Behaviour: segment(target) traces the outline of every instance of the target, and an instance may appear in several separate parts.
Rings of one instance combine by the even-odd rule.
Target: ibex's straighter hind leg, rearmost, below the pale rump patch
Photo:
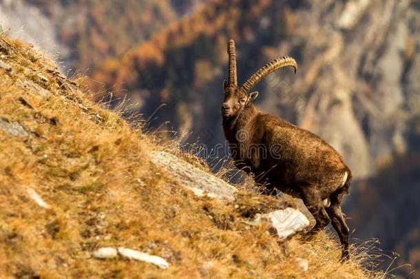
[[[337,231],[340,242],[342,243],[342,260],[348,260],[350,253],[348,251],[349,229],[342,213],[342,200],[344,196],[343,188],[338,189],[330,196],[331,205],[326,209],[328,216],[335,231]]]

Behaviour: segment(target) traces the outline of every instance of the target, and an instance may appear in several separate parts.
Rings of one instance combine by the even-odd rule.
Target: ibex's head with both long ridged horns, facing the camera
[[[292,66],[297,70],[295,59],[283,56],[280,59],[274,59],[255,72],[241,87],[238,87],[238,76],[236,74],[236,54],[235,41],[230,40],[227,45],[227,54],[229,56],[229,77],[223,83],[224,99],[222,104],[222,116],[224,118],[233,118],[238,116],[245,107],[249,107],[253,100],[257,98],[258,92],[249,91],[255,87],[266,76],[286,66]]]

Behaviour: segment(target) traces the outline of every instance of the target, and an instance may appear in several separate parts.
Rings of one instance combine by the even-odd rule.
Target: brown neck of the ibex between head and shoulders
[[[223,131],[227,141],[229,141],[229,143],[235,143],[236,133],[239,130],[246,129],[246,125],[252,121],[257,114],[258,110],[251,104],[249,107],[245,107],[235,118],[223,118]]]

